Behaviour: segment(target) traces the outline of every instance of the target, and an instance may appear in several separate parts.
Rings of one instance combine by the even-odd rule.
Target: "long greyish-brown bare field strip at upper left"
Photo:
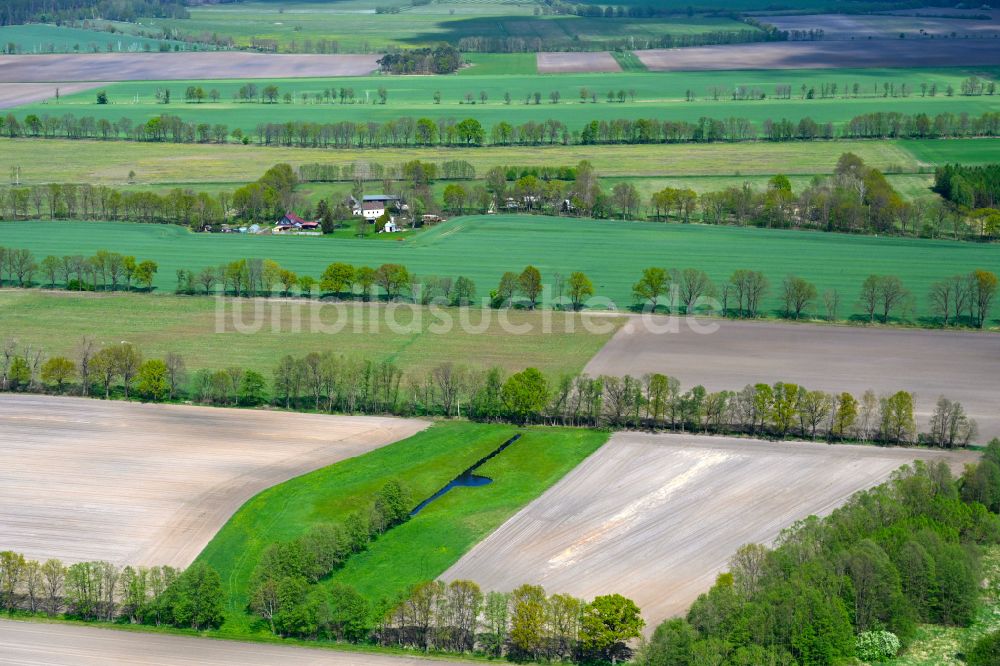
[[[379,57],[237,51],[8,55],[0,58],[0,83],[364,76]]]

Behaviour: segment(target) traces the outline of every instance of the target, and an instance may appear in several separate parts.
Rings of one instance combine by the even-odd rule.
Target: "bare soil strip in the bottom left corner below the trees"
[[[0,620],[0,655],[0,663],[6,666],[420,666],[455,663],[454,660],[13,620]]]

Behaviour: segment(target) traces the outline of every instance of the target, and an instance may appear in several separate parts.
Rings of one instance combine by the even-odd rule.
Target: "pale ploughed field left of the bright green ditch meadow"
[[[0,550],[184,567],[258,492],[416,420],[0,398]]]

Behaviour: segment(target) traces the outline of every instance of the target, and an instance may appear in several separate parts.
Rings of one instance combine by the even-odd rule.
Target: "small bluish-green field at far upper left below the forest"
[[[184,42],[150,39],[122,32],[85,30],[34,23],[30,25],[0,26],[0,49],[10,52],[10,45],[16,53],[92,53],[105,51],[158,51],[160,44],[169,44],[183,49],[190,48]]]

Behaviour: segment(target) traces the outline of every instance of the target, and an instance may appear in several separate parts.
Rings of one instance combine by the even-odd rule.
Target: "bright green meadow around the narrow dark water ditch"
[[[300,476],[260,493],[215,535],[199,560],[222,576],[229,597],[224,633],[252,631],[244,611],[247,583],[265,546],[293,539],[314,524],[342,521],[389,480],[413,504],[429,497],[518,430],[513,426],[445,422],[377,451]],[[493,483],[456,488],[390,530],[332,576],[370,602],[395,600],[432,580],[504,520],[596,451],[607,433],[528,429],[479,468]],[[321,583],[322,584],[322,583]]]

